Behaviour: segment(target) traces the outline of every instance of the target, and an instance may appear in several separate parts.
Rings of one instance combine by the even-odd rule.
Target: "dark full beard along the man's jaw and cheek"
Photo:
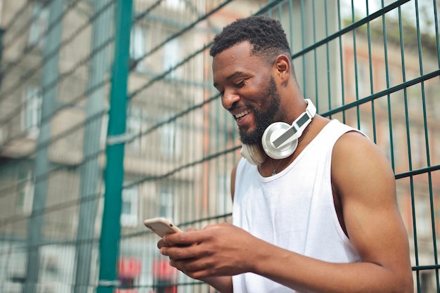
[[[285,118],[284,111],[280,111],[281,98],[273,77],[269,80],[265,95],[266,98],[261,98],[260,104],[261,109],[264,109],[266,105],[264,112],[257,110],[253,105],[246,104],[246,107],[254,112],[256,125],[252,131],[245,131],[239,127],[240,141],[245,145],[259,145],[261,147],[261,137],[266,128],[273,122],[282,121]]]

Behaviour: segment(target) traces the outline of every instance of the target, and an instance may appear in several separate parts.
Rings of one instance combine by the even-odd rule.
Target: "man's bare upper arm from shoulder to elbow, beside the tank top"
[[[335,145],[332,183],[347,233],[362,261],[408,266],[408,236],[396,203],[394,174],[367,138],[346,134]]]

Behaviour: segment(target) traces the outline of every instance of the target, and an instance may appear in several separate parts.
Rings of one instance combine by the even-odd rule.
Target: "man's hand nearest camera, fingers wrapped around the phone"
[[[228,223],[168,234],[157,243],[170,265],[198,280],[250,271],[256,237]]]

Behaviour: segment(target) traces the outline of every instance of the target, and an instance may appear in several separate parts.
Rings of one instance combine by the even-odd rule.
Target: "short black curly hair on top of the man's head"
[[[224,27],[214,37],[209,54],[214,57],[242,41],[249,41],[252,45],[252,54],[261,56],[269,64],[273,64],[276,56],[280,54],[292,57],[281,23],[264,15],[240,18]]]

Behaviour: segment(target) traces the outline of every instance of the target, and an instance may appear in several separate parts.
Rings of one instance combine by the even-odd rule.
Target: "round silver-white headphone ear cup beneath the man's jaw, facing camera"
[[[261,144],[263,145],[263,150],[272,159],[284,159],[289,157],[295,152],[298,146],[298,140],[283,145],[281,148],[276,148],[272,141],[275,141],[291,126],[284,122],[275,122],[269,125],[264,131],[263,137],[261,138]]]

